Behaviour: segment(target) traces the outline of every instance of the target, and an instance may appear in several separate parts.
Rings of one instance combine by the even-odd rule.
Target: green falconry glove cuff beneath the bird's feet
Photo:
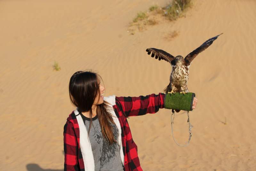
[[[195,93],[167,93],[164,96],[164,108],[192,111]]]

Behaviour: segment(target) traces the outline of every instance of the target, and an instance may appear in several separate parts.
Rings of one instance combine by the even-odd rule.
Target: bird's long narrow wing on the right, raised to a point
[[[221,33],[220,35],[222,35],[223,33]],[[198,48],[196,48],[196,50],[190,52],[186,57],[185,57],[185,62],[187,64],[187,66],[190,65],[190,63],[192,62],[192,60],[194,58],[196,58],[196,56],[201,53],[202,51],[204,51],[206,48],[208,48],[212,42],[214,40],[216,40],[218,38],[219,35],[212,37],[211,39],[207,40],[206,42],[204,42],[201,46],[199,46]]]

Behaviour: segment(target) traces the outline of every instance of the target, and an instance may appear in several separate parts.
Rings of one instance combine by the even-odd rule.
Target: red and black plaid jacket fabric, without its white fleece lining
[[[164,108],[165,94],[159,93],[140,97],[116,97],[113,105],[122,130],[125,171],[142,171],[137,145],[132,139],[127,117],[156,113]],[[84,160],[79,145],[79,127],[76,115],[72,112],[64,126],[64,171],[84,171]]]

